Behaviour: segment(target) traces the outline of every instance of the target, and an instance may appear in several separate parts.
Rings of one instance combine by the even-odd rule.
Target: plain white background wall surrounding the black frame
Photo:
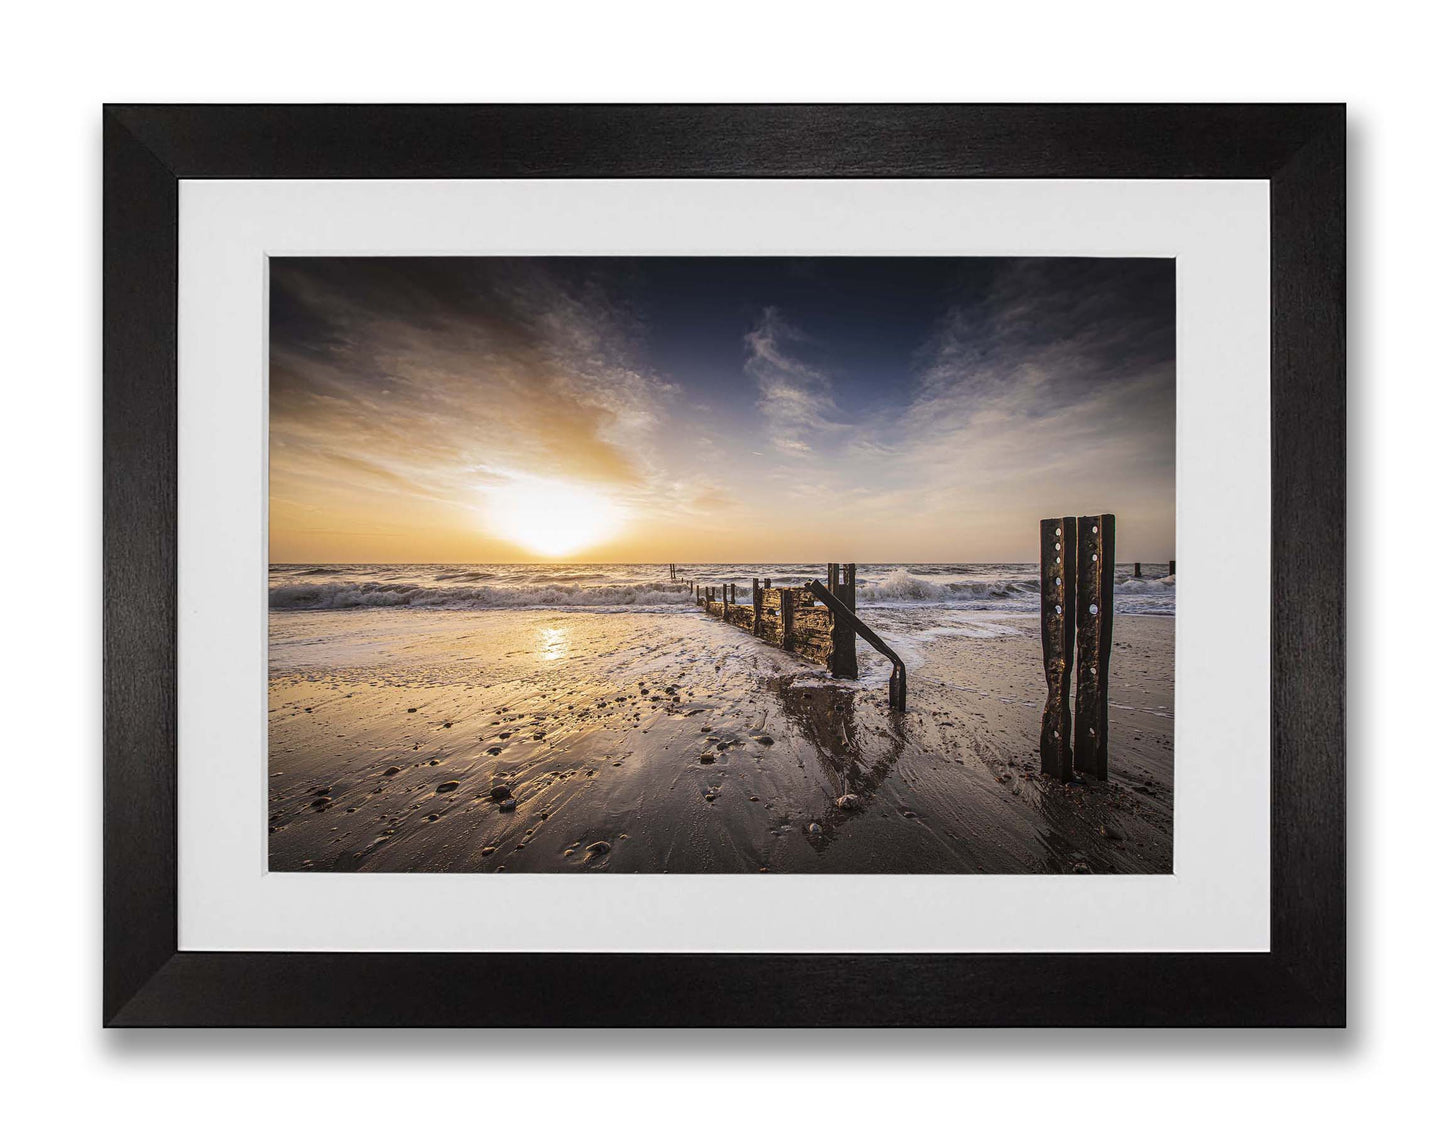
[[[1439,29],[1426,7],[127,3],[6,17],[6,1105],[35,1121],[1387,1121],[1431,1107]],[[1345,1033],[103,1033],[103,101],[1347,100]],[[1422,514],[1423,519],[1418,519]]]

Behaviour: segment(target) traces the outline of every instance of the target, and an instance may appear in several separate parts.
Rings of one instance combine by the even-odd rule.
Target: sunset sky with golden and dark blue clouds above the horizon
[[[1173,558],[1172,259],[270,262],[270,552]]]

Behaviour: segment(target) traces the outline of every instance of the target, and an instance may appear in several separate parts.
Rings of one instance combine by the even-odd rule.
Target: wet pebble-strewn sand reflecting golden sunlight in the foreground
[[[1107,783],[1038,773],[1038,616],[870,611],[909,711],[698,613],[273,611],[270,867],[1168,873],[1173,618],[1114,626]]]

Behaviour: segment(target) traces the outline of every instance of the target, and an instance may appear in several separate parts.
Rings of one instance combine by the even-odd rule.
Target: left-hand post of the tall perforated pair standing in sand
[[[1069,741],[1069,673],[1074,672],[1074,598],[1078,520],[1039,522],[1039,616],[1043,636],[1043,675],[1049,696],[1039,731],[1045,774],[1068,782],[1074,774]]]

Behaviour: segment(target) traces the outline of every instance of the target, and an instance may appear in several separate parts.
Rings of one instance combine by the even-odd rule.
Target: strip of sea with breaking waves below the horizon
[[[694,607],[688,581],[733,582],[751,600],[753,579],[796,587],[824,579],[816,564],[277,564],[270,568],[273,611],[363,611],[376,607],[449,610],[578,610],[675,613]],[[959,611],[1038,613],[1038,564],[860,564],[858,608],[942,607]],[[1114,574],[1116,614],[1175,613],[1175,577],[1166,564]]]

